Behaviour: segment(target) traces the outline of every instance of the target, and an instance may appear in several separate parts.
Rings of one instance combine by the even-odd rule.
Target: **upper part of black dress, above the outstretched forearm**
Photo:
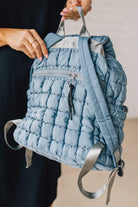
[[[36,29],[44,38],[55,32],[65,0],[0,0],[0,27]]]

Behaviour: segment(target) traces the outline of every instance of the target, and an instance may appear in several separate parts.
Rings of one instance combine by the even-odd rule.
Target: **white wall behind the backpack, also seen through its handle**
[[[109,35],[128,77],[128,118],[138,118],[138,0],[93,0],[86,16],[91,35]],[[78,33],[79,22],[66,22],[67,33]]]

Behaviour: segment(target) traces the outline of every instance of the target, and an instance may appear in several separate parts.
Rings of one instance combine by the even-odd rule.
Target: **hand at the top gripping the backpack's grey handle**
[[[67,19],[78,20],[80,18],[75,6],[81,6],[86,15],[92,9],[92,0],[67,0],[66,7],[60,13],[62,21]]]

